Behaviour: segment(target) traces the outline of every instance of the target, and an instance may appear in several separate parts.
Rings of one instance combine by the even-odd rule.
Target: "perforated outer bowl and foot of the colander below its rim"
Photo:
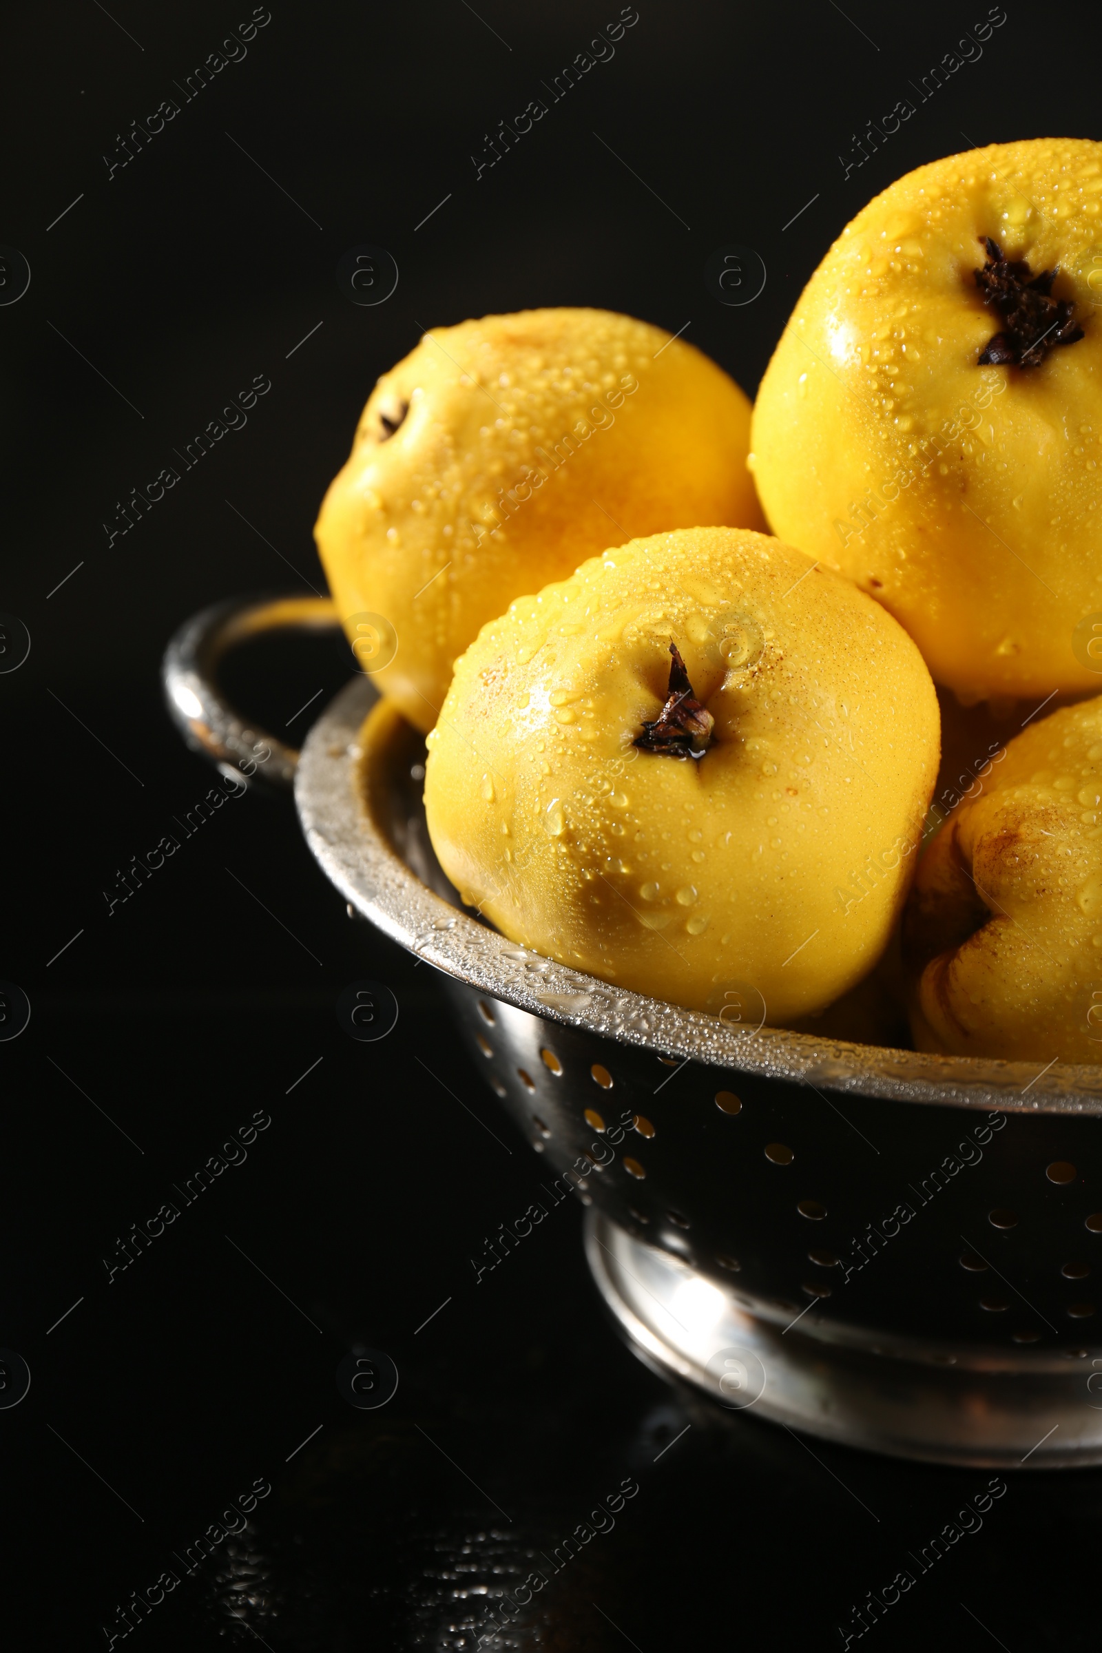
[[[1102,1461],[1095,1119],[666,1066],[444,985],[473,1061],[544,1155],[544,1207],[575,1197],[600,1215],[590,1265],[653,1365],[715,1395],[707,1362],[737,1344],[767,1367],[755,1410],[791,1427],[942,1461]],[[1067,1159],[1077,1180],[1054,1184]]]

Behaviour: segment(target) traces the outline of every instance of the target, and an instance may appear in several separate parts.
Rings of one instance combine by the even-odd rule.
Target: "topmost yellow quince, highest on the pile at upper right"
[[[1097,691],[1100,293],[1102,144],[991,144],[857,213],[762,380],[773,531],[965,701]]]

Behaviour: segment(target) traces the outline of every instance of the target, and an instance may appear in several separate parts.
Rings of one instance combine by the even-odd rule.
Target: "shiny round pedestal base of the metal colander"
[[[596,1208],[587,1212],[585,1246],[639,1359],[730,1410],[897,1458],[1026,1470],[1102,1463],[1102,1393],[1090,1393],[1087,1359],[948,1354],[919,1342],[889,1354],[874,1334],[824,1319],[813,1331],[786,1326]]]

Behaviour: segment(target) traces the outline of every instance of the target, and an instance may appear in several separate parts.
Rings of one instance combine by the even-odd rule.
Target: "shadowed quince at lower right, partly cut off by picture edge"
[[[904,957],[919,1050],[1100,1060],[1102,699],[981,765],[919,865]]]

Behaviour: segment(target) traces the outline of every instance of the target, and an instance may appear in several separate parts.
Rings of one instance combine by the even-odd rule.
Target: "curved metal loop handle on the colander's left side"
[[[169,714],[192,747],[230,780],[287,792],[299,754],[243,717],[218,686],[218,661],[264,631],[337,630],[329,597],[231,597],[187,620],[165,650],[160,676]]]

